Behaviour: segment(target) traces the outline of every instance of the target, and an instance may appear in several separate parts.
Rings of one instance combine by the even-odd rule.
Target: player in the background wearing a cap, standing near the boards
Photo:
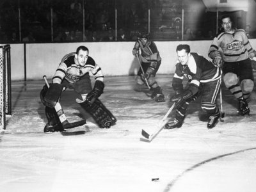
[[[159,51],[157,50],[156,44],[149,40],[149,33],[140,32],[138,39],[132,49],[132,54],[138,56],[141,51],[141,67],[143,71],[138,71],[138,76],[136,77],[136,83],[147,84],[150,86],[150,90],[153,91],[151,97],[156,100],[156,102],[163,102],[164,95],[161,87],[157,83],[155,76],[156,72],[161,65],[161,57]],[[143,74],[145,72],[145,74]],[[147,81],[147,82],[146,82]]]

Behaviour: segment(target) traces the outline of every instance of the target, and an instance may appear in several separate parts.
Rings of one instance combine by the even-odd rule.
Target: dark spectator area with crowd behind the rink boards
[[[152,38],[168,35],[168,40],[179,40],[181,2],[2,0],[0,43],[134,41],[139,31],[148,30],[148,8]],[[214,30],[184,28],[183,40],[212,39],[215,34]]]

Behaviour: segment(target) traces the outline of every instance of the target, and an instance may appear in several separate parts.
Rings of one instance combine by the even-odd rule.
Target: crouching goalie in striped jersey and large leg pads
[[[115,124],[115,116],[98,99],[104,90],[102,70],[88,54],[89,50],[84,46],[78,47],[76,52],[66,54],[52,78],[49,89],[46,85],[42,89],[40,97],[45,105],[48,120],[44,132],[63,131],[63,126],[60,124],[54,106],[60,101],[61,93],[66,88],[70,88],[81,95],[82,100],[77,99],[77,102],[92,115],[99,127],[109,128]],[[93,88],[89,72],[95,78]]]

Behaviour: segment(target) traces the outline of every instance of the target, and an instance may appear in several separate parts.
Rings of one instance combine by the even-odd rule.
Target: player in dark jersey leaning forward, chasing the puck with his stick
[[[189,102],[201,95],[201,108],[209,115],[207,128],[211,129],[220,118],[216,98],[220,90],[221,69],[196,52],[190,52],[189,45],[178,45],[176,51],[178,61],[172,82],[175,95],[171,99],[176,102],[176,115],[175,120],[166,124],[165,128],[181,127]],[[183,88],[184,78],[188,79],[187,89]]]

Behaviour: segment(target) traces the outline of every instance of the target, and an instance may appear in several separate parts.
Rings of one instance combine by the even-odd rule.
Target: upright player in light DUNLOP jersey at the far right
[[[230,16],[221,18],[223,30],[214,37],[209,49],[209,57],[223,71],[225,86],[239,102],[239,114],[249,115],[246,100],[253,90],[251,60],[255,55],[244,29],[232,28]]]

